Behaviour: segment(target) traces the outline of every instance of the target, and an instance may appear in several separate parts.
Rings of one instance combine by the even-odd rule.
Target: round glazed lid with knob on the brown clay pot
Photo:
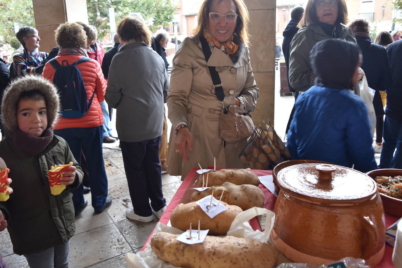
[[[297,198],[328,205],[354,205],[370,199],[377,185],[366,174],[343,166],[298,164],[278,173],[279,187]]]

